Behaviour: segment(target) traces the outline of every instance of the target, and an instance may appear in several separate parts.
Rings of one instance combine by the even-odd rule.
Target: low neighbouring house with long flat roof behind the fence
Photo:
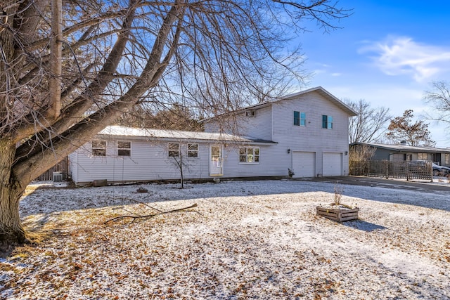
[[[373,160],[389,160],[402,162],[411,160],[430,160],[441,166],[450,167],[450,149],[409,146],[406,143],[397,145],[378,143],[352,143],[350,147],[365,145],[375,150]]]

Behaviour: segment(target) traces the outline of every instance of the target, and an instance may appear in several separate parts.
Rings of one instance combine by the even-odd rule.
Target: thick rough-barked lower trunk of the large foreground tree
[[[19,200],[25,187],[11,174],[14,154],[14,144],[0,141],[0,243],[6,244],[27,242],[19,216]]]

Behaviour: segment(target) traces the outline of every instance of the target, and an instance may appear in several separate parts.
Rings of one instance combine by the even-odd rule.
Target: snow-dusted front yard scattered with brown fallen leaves
[[[340,185],[360,211],[336,223],[316,216],[333,182],[43,186],[20,202],[42,242],[0,259],[0,299],[450,299],[446,191]]]

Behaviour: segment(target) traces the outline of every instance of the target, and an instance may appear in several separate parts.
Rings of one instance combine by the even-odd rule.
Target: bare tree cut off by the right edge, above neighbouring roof
[[[435,81],[432,90],[425,91],[424,100],[435,108],[430,119],[447,124],[450,129],[450,83],[446,81]]]

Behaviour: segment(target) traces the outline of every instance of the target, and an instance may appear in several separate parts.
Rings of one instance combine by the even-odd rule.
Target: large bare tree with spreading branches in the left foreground
[[[214,115],[274,94],[285,70],[302,79],[299,49],[285,51],[302,21],[329,30],[349,14],[334,0],[4,0],[0,11],[6,242],[27,241],[19,218],[27,184],[123,112],[184,98]]]

